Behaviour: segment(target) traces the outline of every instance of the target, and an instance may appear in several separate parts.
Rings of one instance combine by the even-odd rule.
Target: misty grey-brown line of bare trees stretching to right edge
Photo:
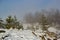
[[[51,10],[42,10],[40,12],[35,13],[27,13],[24,16],[24,20],[26,23],[35,24],[39,23],[42,30],[47,30],[49,27],[55,27],[60,29],[60,10],[51,9]],[[47,26],[48,27],[47,27]],[[31,27],[33,28],[33,26]]]

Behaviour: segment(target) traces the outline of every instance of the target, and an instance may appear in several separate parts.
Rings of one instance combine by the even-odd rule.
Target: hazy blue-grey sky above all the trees
[[[16,15],[22,19],[26,13],[49,8],[60,9],[60,0],[0,0],[0,18]]]

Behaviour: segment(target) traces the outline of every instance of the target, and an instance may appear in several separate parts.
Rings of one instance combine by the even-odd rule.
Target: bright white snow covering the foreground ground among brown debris
[[[44,35],[44,33],[40,33],[41,30],[35,31],[37,36],[35,36],[31,30],[17,30],[17,29],[10,30],[4,29],[4,30],[6,31],[6,33],[0,33],[0,40],[2,40],[1,37],[4,37],[6,35],[8,35],[8,37],[4,38],[4,40],[41,40],[39,35]],[[49,28],[48,30],[56,33],[56,29],[54,28]]]

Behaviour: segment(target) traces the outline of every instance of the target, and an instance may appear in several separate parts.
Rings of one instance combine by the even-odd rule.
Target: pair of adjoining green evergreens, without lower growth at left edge
[[[23,29],[23,26],[17,20],[16,16],[14,17],[8,16],[8,18],[6,18],[6,28],[7,29],[10,29],[10,28]]]

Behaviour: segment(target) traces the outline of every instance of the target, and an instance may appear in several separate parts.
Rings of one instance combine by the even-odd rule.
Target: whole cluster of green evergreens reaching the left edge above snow
[[[0,19],[0,28],[5,29],[23,29],[22,24],[17,20],[16,16],[8,16],[5,20]]]

